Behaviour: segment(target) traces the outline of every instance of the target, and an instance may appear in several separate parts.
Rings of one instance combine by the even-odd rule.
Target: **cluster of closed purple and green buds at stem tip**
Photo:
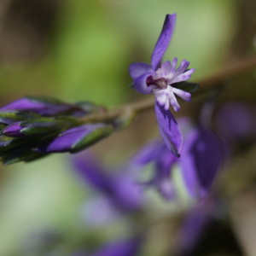
[[[86,124],[90,102],[69,104],[51,97],[27,96],[0,108],[0,156],[3,164],[35,160],[49,153],[75,153],[107,137],[112,123]]]

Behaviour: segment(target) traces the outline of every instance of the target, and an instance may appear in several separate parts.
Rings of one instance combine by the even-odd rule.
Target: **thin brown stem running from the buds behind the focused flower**
[[[230,79],[241,73],[246,73],[256,67],[256,55],[247,57],[241,61],[231,63],[225,67],[222,71],[209,76],[206,79],[201,79],[199,90],[197,90],[194,96],[199,96],[205,93],[207,90],[211,90],[214,86],[221,84],[222,82]],[[147,98],[140,102],[133,102],[116,109],[103,110],[99,113],[92,113],[88,116],[81,118],[83,123],[99,122],[113,120],[124,113],[136,114],[154,108],[154,96],[147,96]]]

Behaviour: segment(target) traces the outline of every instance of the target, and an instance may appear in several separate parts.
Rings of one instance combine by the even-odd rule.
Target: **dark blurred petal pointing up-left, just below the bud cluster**
[[[103,193],[109,193],[113,183],[95,157],[87,152],[77,154],[73,158],[73,166],[74,171],[79,174],[85,183],[89,183]]]

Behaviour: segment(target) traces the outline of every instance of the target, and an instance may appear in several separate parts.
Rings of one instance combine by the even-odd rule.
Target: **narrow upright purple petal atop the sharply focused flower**
[[[163,55],[171,41],[172,33],[174,31],[174,26],[176,22],[176,14],[166,15],[166,20],[162,31],[160,32],[160,37],[154,46],[154,51],[151,57],[151,64],[154,70],[159,66]]]

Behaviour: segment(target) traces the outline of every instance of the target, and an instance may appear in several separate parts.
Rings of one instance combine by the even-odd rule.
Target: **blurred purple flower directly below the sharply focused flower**
[[[171,180],[173,166],[181,168],[189,195],[197,198],[208,194],[224,158],[218,137],[202,126],[188,131],[182,153],[177,158],[159,140],[143,148],[134,159],[141,166],[154,162],[154,177],[146,184],[154,186],[167,201],[175,197]]]

